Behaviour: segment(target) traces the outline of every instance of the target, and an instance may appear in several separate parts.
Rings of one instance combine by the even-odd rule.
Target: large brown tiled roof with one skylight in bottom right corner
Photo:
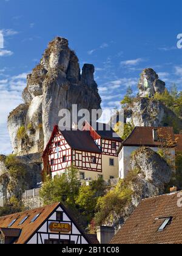
[[[141,201],[111,244],[182,244],[182,212],[178,193]],[[158,231],[170,218],[163,231]]]

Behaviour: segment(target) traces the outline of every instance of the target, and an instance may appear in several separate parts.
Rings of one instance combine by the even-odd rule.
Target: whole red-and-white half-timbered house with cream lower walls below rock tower
[[[83,130],[53,129],[45,155],[49,155],[52,177],[66,172],[73,166],[79,169],[81,180],[118,178],[118,154],[121,138],[107,126],[97,123],[95,129],[85,122]]]

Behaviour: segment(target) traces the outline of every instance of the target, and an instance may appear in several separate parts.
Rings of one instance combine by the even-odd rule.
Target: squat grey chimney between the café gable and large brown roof
[[[96,237],[100,244],[109,244],[115,235],[115,230],[113,227],[97,227]]]

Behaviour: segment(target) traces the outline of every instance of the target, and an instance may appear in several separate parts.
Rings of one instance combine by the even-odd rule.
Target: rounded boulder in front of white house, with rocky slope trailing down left
[[[132,169],[138,172],[128,187],[133,191],[132,198],[127,205],[121,207],[120,214],[112,212],[112,218],[109,216],[104,223],[106,226],[115,227],[115,230],[120,229],[142,199],[164,194],[165,187],[172,177],[172,169],[167,162],[150,148],[138,149],[132,155],[130,164]]]

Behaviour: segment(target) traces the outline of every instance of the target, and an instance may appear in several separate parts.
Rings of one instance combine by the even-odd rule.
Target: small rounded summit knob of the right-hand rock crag
[[[152,97],[155,93],[164,93],[166,84],[161,81],[152,68],[146,68],[141,73],[138,84],[140,97]]]

